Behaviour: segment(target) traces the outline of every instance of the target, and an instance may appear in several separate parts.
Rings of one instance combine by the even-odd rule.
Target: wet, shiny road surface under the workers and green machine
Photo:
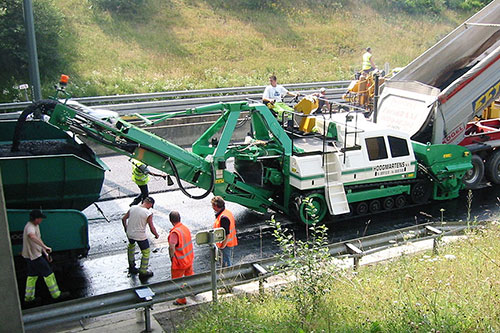
[[[62,290],[69,290],[72,298],[100,295],[122,290],[141,284],[137,276],[127,274],[127,238],[122,227],[121,217],[128,210],[129,204],[138,188],[130,179],[131,167],[126,157],[114,156],[104,158],[111,171],[106,173],[106,180],[101,192],[103,201],[97,203],[102,213],[94,206],[88,207],[84,213],[89,219],[90,252],[89,256],[73,265],[55,265],[56,276]],[[214,220],[210,205],[212,195],[202,200],[186,197],[175,187],[165,192],[163,180],[152,179],[150,192],[156,200],[154,208],[154,224],[159,239],[150,235],[152,249],[150,269],[154,276],[148,282],[159,282],[170,279],[170,260],[168,257],[167,236],[171,228],[168,214],[178,210],[182,222],[194,235],[202,230],[210,229]],[[159,191],[163,191],[159,193]],[[201,194],[203,190],[191,189],[193,194]],[[466,220],[468,215],[467,192],[452,201],[433,202],[432,204],[407,208],[401,211],[382,213],[374,216],[358,217],[346,221],[327,221],[329,241],[338,242],[364,235],[371,235],[388,230],[407,227],[417,223],[439,221],[441,209],[445,221]],[[487,187],[473,192],[471,220],[484,221],[500,217],[500,186]],[[118,197],[118,199],[112,199]],[[227,208],[235,215],[237,221],[239,245],[235,249],[235,262],[252,262],[263,257],[272,256],[278,250],[272,230],[267,221],[269,214],[255,213],[235,203],[227,203]],[[306,228],[303,224],[290,221],[277,214],[282,224],[294,232],[299,239],[305,239]],[[149,231],[148,231],[149,232]],[[43,236],[43,235],[42,235]],[[209,250],[207,246],[194,244],[195,273],[208,271]],[[136,259],[140,251],[136,250]],[[24,288],[23,277],[19,276],[19,289]],[[44,301],[45,287],[38,285]],[[48,301],[47,301],[48,302]]]

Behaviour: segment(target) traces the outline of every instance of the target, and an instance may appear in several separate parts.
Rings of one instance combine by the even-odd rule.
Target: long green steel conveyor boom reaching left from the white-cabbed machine
[[[201,199],[213,193],[256,211],[265,212],[272,208],[288,214],[292,142],[271,111],[262,104],[218,103],[160,117],[158,121],[180,114],[222,112],[222,116],[201,135],[193,144],[192,152],[189,152],[123,119],[109,123],[63,103],[52,100],[45,101],[45,104],[44,101],[38,103],[42,112],[50,116],[49,123],[52,125],[61,130],[83,134],[120,154],[174,176],[181,191],[191,198]],[[251,117],[254,139],[265,144],[252,147],[253,149],[238,149],[241,145],[238,148],[230,145],[242,112],[249,113]],[[214,141],[215,135],[218,138]],[[283,179],[276,177],[274,170],[267,171],[274,174],[274,184],[281,181],[279,186],[249,184],[226,169],[226,162],[231,157],[258,162],[260,158],[270,154],[276,156],[275,165],[278,165]],[[192,195],[184,189],[181,180],[206,192]]]

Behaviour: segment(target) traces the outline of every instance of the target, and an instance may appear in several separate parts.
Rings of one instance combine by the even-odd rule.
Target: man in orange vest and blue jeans
[[[221,197],[215,196],[212,198],[212,209],[215,212],[214,228],[224,228],[226,231],[226,239],[216,244],[222,251],[222,267],[228,267],[231,266],[234,247],[238,245],[236,223],[233,213],[226,209],[226,203]]]

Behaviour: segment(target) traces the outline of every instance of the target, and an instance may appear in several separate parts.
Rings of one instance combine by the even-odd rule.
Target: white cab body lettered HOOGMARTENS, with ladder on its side
[[[302,151],[291,157],[290,184],[323,189],[333,215],[349,213],[344,186],[416,177],[417,161],[408,134],[367,121],[362,114],[316,117],[326,140],[294,140]]]

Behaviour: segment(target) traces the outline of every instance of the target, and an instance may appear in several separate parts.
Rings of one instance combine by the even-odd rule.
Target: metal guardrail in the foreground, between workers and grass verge
[[[352,257],[359,261],[363,255],[378,252],[395,245],[404,245],[427,239],[458,234],[475,226],[466,223],[431,222],[412,227],[388,231],[377,235],[352,239],[328,246],[333,257]],[[436,231],[437,230],[437,231]],[[430,236],[429,236],[430,234]],[[349,244],[349,246],[348,246]],[[352,249],[359,251],[353,253]],[[241,264],[219,271],[218,284],[231,287],[251,281],[262,280],[270,275],[273,266],[282,264],[278,257],[272,257],[253,263]],[[135,290],[149,287],[155,296],[150,301],[143,301]],[[210,272],[196,274],[176,280],[168,280],[137,288],[116,291],[109,294],[83,299],[70,300],[62,303],[46,305],[23,311],[24,327],[28,330],[38,330],[44,327],[79,321],[86,318],[120,312],[134,308],[149,308],[155,303],[165,302],[180,297],[198,294],[211,290]]]

